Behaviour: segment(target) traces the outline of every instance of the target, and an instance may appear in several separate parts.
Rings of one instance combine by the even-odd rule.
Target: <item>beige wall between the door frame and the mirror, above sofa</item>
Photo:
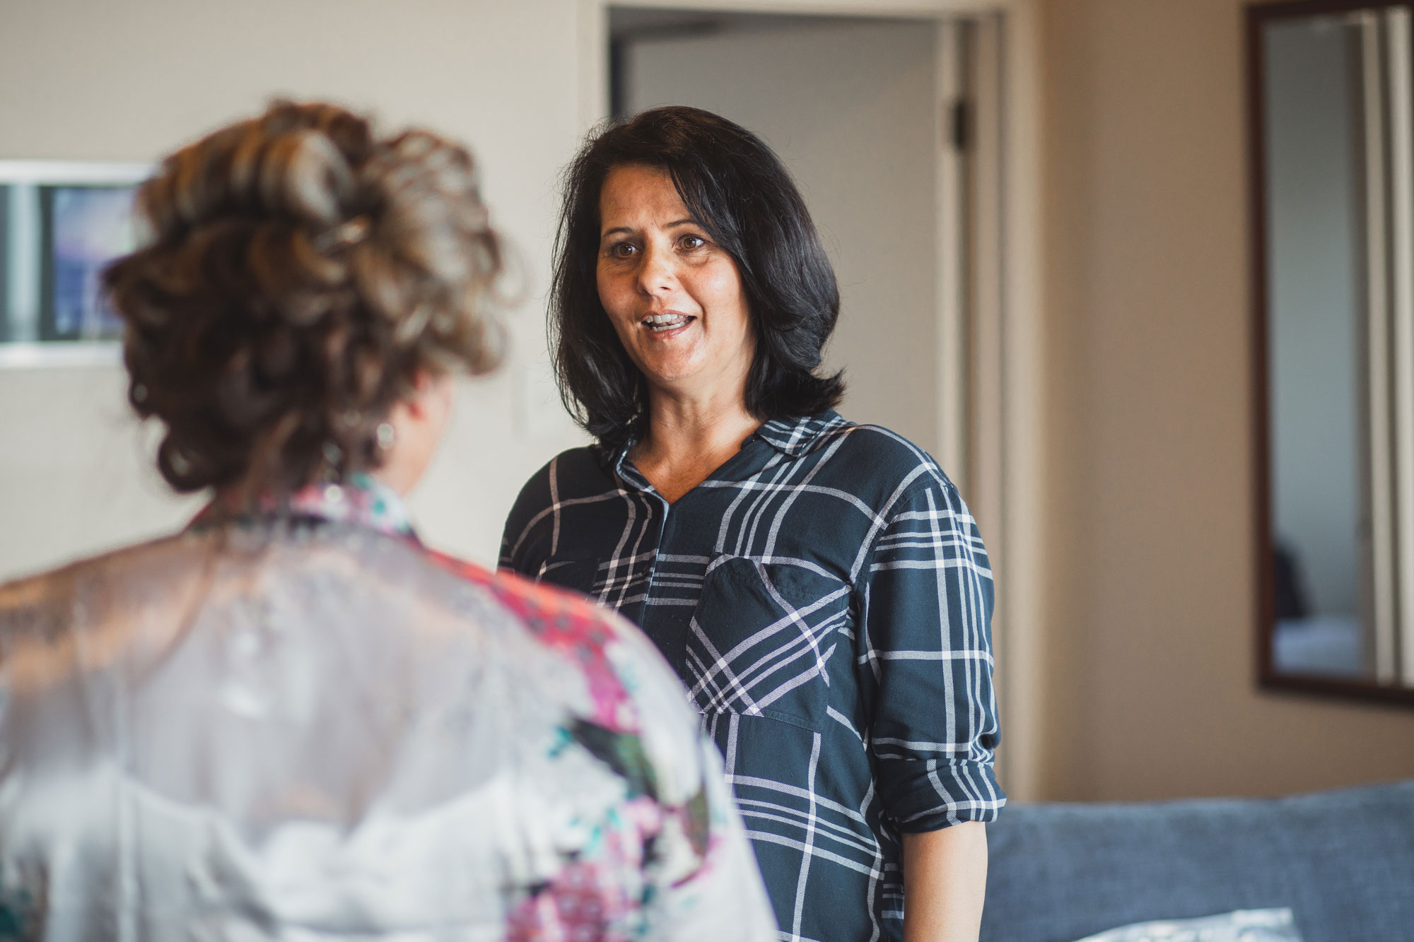
[[[1414,775],[1414,710],[1253,675],[1241,3],[1046,0],[1055,798]]]

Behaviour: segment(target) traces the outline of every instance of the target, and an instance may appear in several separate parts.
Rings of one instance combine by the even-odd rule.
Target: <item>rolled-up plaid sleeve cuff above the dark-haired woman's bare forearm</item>
[[[884,812],[905,835],[964,820],[993,822],[1007,803],[991,762],[884,760],[878,777]]]

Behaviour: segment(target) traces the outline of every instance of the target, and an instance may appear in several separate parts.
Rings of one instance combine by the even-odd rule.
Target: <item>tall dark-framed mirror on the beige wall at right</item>
[[[1414,687],[1410,10],[1282,4],[1249,23],[1263,680]]]

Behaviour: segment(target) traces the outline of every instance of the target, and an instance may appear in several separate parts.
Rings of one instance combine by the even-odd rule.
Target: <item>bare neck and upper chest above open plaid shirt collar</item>
[[[737,454],[759,426],[741,395],[689,399],[652,390],[633,464],[672,504]]]

